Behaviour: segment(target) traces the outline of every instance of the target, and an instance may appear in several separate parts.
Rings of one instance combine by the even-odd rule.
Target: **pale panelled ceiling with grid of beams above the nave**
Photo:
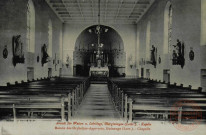
[[[135,24],[155,0],[100,0],[100,22]],[[98,0],[46,0],[64,23],[98,23]]]

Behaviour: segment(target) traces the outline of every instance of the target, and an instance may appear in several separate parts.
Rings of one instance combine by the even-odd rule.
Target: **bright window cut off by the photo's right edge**
[[[206,0],[201,0],[201,46],[206,45]]]

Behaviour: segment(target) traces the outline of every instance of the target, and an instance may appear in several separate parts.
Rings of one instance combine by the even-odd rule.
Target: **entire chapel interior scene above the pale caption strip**
[[[206,0],[1,0],[0,121],[205,124],[205,9]]]

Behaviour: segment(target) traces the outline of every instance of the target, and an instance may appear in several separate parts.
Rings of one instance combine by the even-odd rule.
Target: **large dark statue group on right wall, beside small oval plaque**
[[[180,42],[179,39],[177,39],[177,44],[173,45],[174,50],[172,53],[172,64],[173,65],[180,65],[181,68],[185,65],[185,58],[184,58],[184,49],[185,45],[184,42]]]

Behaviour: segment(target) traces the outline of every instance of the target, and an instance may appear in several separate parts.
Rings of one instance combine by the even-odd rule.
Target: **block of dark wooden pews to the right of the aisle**
[[[198,90],[170,87],[146,79],[125,78],[108,79],[108,88],[114,105],[127,121],[171,120],[169,117],[174,115],[177,118],[175,121],[184,122],[183,117],[187,116],[183,114],[187,112],[201,113],[200,121],[206,119],[206,95]],[[184,104],[179,110],[172,111],[177,101],[192,101],[194,104]],[[195,107],[200,109],[194,109]]]

